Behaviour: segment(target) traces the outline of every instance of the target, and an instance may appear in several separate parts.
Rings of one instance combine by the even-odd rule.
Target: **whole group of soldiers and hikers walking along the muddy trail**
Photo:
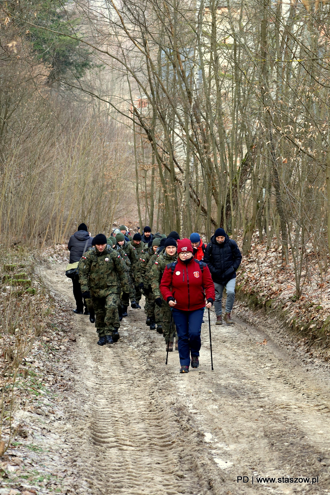
[[[78,273],[70,277],[77,304],[74,312],[90,316],[99,346],[118,342],[130,301],[133,309],[141,309],[142,295],[145,323],[163,335],[168,351],[179,351],[180,373],[189,372],[190,365],[199,366],[205,308],[214,304],[216,325],[234,324],[231,312],[242,256],[222,228],[205,244],[196,232],[180,239],[175,231],[168,236],[151,234],[148,226],[142,235],[138,228],[133,237],[121,225],[108,238],[104,234],[93,238],[82,223],[70,237],[68,249],[69,262],[79,262]]]

